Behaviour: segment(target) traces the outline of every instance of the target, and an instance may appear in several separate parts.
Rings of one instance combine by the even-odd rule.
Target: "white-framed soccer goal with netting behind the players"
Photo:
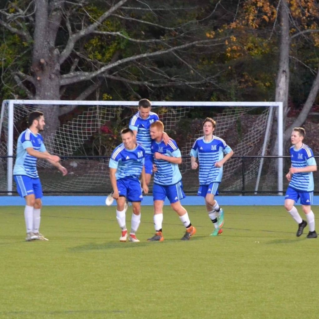
[[[48,173],[50,170],[46,168],[50,165],[40,160],[39,173],[44,192],[108,192],[111,189],[109,156],[121,142],[119,132],[128,126],[130,118],[137,112],[137,105],[137,101],[4,100],[0,117],[0,166],[6,174],[0,174],[0,191],[14,191],[12,170],[16,141],[27,128],[28,113],[41,110],[47,126],[51,126],[49,132],[44,131],[45,145],[49,152],[65,158],[63,165],[70,172],[67,178],[60,178],[55,171]],[[220,190],[240,193],[244,176],[246,187],[252,193],[261,189],[268,194],[272,191],[281,194],[283,161],[278,158],[265,164],[263,157],[283,156],[281,102],[153,101],[152,111],[159,115],[165,131],[181,149],[181,172],[186,192],[196,192],[198,188],[198,172],[191,170],[189,152],[196,138],[203,135],[202,121],[210,116],[217,122],[214,135],[222,137],[235,152],[234,157],[224,166]],[[54,122],[58,125],[52,128],[51,123]],[[271,132],[276,132],[276,141],[271,139]],[[276,147],[271,149],[270,146],[274,144]],[[247,160],[245,169],[242,159],[236,157],[253,155],[259,157]]]

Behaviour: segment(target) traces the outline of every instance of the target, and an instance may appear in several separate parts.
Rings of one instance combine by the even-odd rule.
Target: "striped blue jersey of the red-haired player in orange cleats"
[[[165,145],[163,141],[157,143],[155,140],[153,140],[151,144],[151,151],[153,155],[155,152],[159,152],[166,156],[182,157],[181,151],[173,139],[170,139],[167,145]],[[178,164],[167,162],[164,159],[153,158],[153,161],[157,167],[157,171],[154,173],[155,184],[165,186],[174,185],[182,179]]]

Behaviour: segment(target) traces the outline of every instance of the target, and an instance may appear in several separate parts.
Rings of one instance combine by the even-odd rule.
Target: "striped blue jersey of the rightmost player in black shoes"
[[[311,148],[306,144],[302,144],[299,150],[296,150],[295,147],[292,146],[289,151],[292,167],[300,168],[317,165]],[[288,186],[298,191],[312,192],[314,190],[314,177],[312,172],[292,174]]]

